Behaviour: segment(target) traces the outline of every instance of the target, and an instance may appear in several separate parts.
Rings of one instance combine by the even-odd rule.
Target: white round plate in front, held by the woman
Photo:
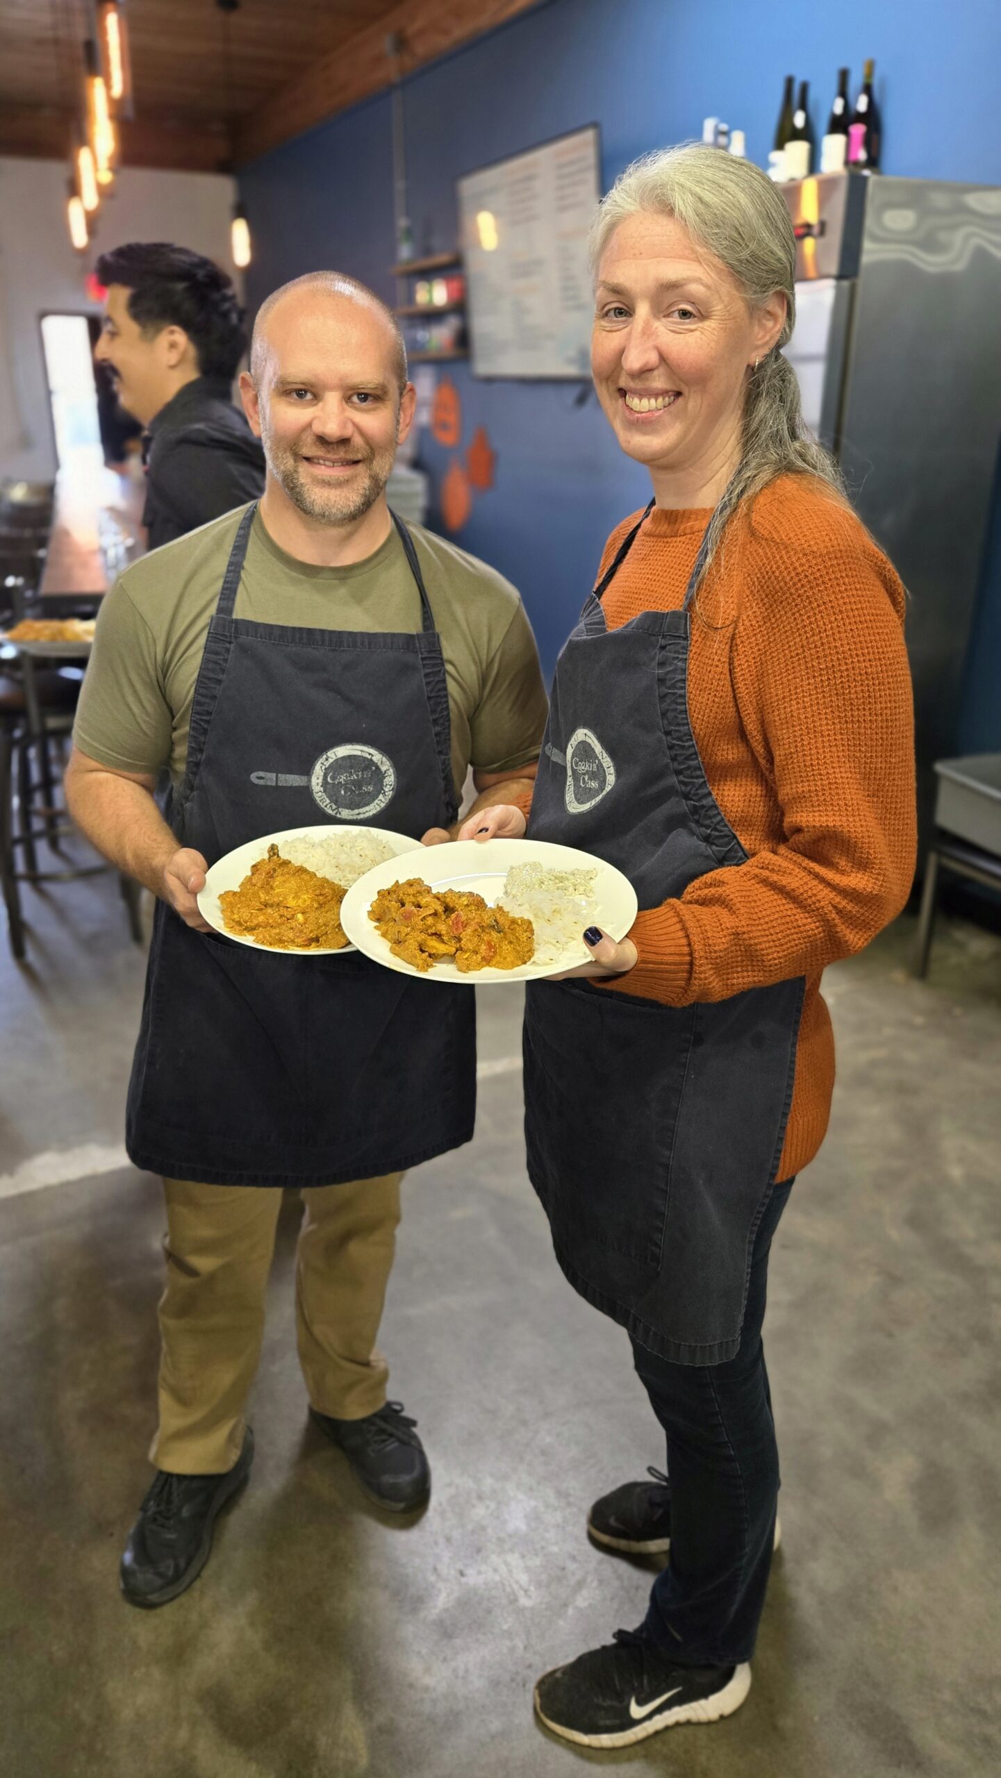
[[[400,869],[395,859],[386,859],[375,869],[359,877],[350,885],[341,903],[341,926],[359,951],[372,957],[386,969],[396,969],[402,976],[418,976],[421,981],[460,981],[487,987],[494,981],[544,981],[546,976],[587,964],[590,951],[581,937],[567,948],[555,964],[521,964],[519,969],[475,969],[464,974],[455,964],[434,964],[430,969],[414,969],[393,957],[388,941],[377,932],[368,917],[379,889],[388,889],[396,880],[420,877],[432,889],[469,889],[482,894],[491,907],[503,893],[503,882],[512,864],[546,864],[553,871],[594,869],[594,900],[597,903],[592,916],[594,925],[613,939],[624,939],[637,917],[637,891],[628,877],[617,871],[605,859],[596,859],[590,852],[576,852],[573,846],[553,846],[546,839],[457,839],[450,846],[423,846],[420,859],[407,859]]]

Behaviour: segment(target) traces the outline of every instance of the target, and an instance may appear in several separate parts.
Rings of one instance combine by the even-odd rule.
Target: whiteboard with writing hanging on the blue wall
[[[597,124],[459,180],[475,377],[587,377]]]

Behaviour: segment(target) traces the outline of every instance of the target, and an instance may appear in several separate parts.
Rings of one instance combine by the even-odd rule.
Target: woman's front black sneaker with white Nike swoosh
[[[581,1748],[629,1748],[676,1723],[733,1716],[750,1691],[750,1668],[679,1668],[645,1632],[615,1630],[535,1687],[539,1719]]]

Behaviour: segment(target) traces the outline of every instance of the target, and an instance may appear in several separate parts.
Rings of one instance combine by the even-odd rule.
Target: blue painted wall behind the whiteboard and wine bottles
[[[638,153],[699,135],[702,117],[747,132],[765,164],[782,75],[811,82],[820,137],[836,69],[877,59],[887,172],[1001,185],[997,0],[548,0],[405,82],[409,210],[418,251],[455,244],[455,180],[533,142],[599,123],[608,185]],[[284,144],[240,174],[254,233],[256,304],[299,272],[336,265],[389,302],[395,286],[389,100]],[[612,526],[647,498],[580,386],[476,382],[452,368],[468,444],[485,425],[496,487],[459,533],[521,589],[546,667],[571,628]],[[448,462],[421,446],[436,477]],[[997,525],[1001,539],[1001,519]],[[962,745],[1001,749],[1001,542],[989,551]]]

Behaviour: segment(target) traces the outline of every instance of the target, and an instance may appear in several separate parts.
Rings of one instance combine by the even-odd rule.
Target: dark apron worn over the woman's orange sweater
[[[747,853],[688,724],[702,551],[683,610],[605,622],[601,596],[640,525],[558,658],[528,834],[615,864],[651,909]],[[798,978],[663,1006],[590,981],[526,990],[528,1172],[557,1259],[581,1296],[679,1364],[720,1364],[740,1344],[802,992]]]

